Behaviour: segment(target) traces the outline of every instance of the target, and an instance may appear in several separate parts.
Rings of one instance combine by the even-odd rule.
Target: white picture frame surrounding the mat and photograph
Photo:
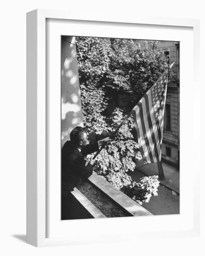
[[[198,95],[200,95],[198,73],[200,54],[199,20],[169,19],[165,17],[145,18],[140,17],[139,15],[137,17],[130,17],[129,20],[124,20],[123,17],[116,18],[116,16],[114,19],[112,17],[104,19],[103,16],[95,17],[95,14],[93,14],[92,17],[88,17],[85,13],[78,17],[76,14],[55,10],[34,10],[27,13],[27,243],[37,247],[42,247],[80,243],[116,242],[121,241],[122,239],[123,241],[134,241],[136,237],[144,239],[146,237],[153,237],[154,234],[157,234],[158,237],[197,236],[200,229],[198,198],[199,184],[197,184],[197,179],[199,179],[199,168],[195,169],[196,173],[193,180],[187,178],[187,183],[189,185],[192,184],[193,186],[193,189],[190,190],[189,194],[190,200],[192,201],[191,213],[186,213],[184,217],[182,212],[181,219],[179,219],[178,216],[171,216],[172,221],[176,223],[183,222],[183,220],[185,220],[183,227],[181,226],[176,228],[177,226],[173,226],[173,229],[165,229],[163,223],[167,222],[169,216],[166,218],[164,218],[164,216],[154,216],[154,219],[152,217],[148,217],[148,219],[145,220],[143,217],[140,217],[142,225],[144,225],[143,223],[145,222],[147,223],[147,226],[144,225],[144,230],[141,228],[140,231],[132,228],[134,222],[138,227],[140,224],[139,221],[137,222],[133,217],[107,219],[106,225],[113,227],[113,230],[109,231],[108,229],[106,231],[105,220],[94,220],[95,225],[92,223],[93,220],[77,220],[67,224],[65,224],[65,222],[62,222],[63,224],[61,223],[61,226],[68,225],[70,227],[71,232],[69,232],[68,235],[63,235],[63,233],[60,234],[59,230],[55,233],[54,230],[52,236],[48,237],[46,228],[46,225],[48,225],[46,212],[48,210],[46,202],[46,187],[49,185],[48,180],[46,179],[46,141],[48,136],[46,121],[46,97],[48,97],[46,87],[46,52],[48,51],[46,48],[46,20],[48,19],[58,20],[58,25],[65,20],[76,20],[81,24],[83,24],[83,22],[92,22],[96,27],[99,22],[101,22],[106,24],[107,27],[111,27],[113,25],[129,26],[130,29],[133,29],[136,24],[147,26],[150,30],[154,29],[154,27],[163,27],[167,30],[172,27],[180,30],[185,30],[186,28],[191,29],[191,39],[193,39],[193,47],[191,50],[193,51],[193,59],[191,58],[189,68],[194,79],[194,94],[192,99],[194,107],[191,111],[197,113],[197,115],[194,115],[194,122],[191,127],[191,131],[193,132],[193,141],[191,143],[194,143],[195,148],[200,148],[197,147],[199,145],[200,127],[198,98]],[[92,33],[93,32],[90,32],[89,35]],[[188,83],[193,85],[192,81],[187,81],[187,84]],[[183,97],[183,95],[180,94],[180,97]],[[183,105],[181,111],[185,113]],[[183,142],[185,141],[182,141],[182,144]],[[185,158],[180,159],[180,161],[182,161],[182,166],[184,159]],[[192,163],[189,164],[190,167],[188,168],[192,168],[197,162],[199,162],[199,154],[198,156],[196,154],[196,157],[193,159]],[[183,195],[183,191],[184,190],[182,189],[182,193],[180,194],[182,202],[183,197],[185,197],[185,195]],[[183,205],[180,204],[180,207],[183,209]],[[187,208],[185,207],[184,209],[186,210]],[[159,223],[161,223],[160,228]],[[122,226],[121,229],[117,228],[119,225]],[[86,229],[86,232],[81,232],[81,234],[76,232],[75,227],[79,228],[80,226],[83,227],[83,229]],[[105,229],[103,229],[103,226],[105,226]],[[150,227],[152,228],[150,229]],[[96,234],[96,232],[99,232],[99,234]],[[123,237],[125,234],[126,237]]]

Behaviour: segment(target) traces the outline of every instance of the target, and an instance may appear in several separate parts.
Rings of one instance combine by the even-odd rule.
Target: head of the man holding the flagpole
[[[87,145],[89,141],[85,129],[81,126],[74,128],[70,133],[70,141],[78,148]]]

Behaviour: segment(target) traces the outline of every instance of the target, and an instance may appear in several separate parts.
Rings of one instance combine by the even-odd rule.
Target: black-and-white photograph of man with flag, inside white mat
[[[62,220],[180,213],[179,46],[61,36]]]

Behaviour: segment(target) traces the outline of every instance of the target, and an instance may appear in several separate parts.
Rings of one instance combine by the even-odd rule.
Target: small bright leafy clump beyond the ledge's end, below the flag
[[[158,195],[160,182],[157,175],[142,177],[139,182],[132,182],[122,188],[122,192],[137,203],[149,202],[152,195]]]

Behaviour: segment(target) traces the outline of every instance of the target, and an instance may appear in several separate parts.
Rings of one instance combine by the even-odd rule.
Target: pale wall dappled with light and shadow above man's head
[[[61,145],[70,139],[70,131],[83,126],[75,37],[61,40]]]

